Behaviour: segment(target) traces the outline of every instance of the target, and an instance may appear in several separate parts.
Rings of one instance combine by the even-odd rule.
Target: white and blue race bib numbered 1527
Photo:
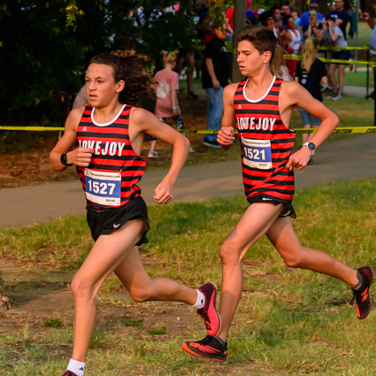
[[[120,206],[121,174],[85,169],[86,198],[92,203]]]

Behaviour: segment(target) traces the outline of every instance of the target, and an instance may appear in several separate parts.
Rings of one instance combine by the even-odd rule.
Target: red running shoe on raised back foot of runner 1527
[[[197,313],[203,318],[208,334],[216,335],[220,329],[220,316],[216,308],[217,286],[214,283],[206,283],[200,291],[205,296],[205,304]]]

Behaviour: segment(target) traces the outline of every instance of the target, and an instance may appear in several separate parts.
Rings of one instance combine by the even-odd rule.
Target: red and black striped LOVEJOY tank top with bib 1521
[[[242,149],[242,179],[248,199],[262,195],[281,203],[294,196],[294,171],[286,168],[295,142],[295,131],[280,119],[282,80],[272,80],[265,96],[250,100],[242,81],[234,94],[236,128]]]

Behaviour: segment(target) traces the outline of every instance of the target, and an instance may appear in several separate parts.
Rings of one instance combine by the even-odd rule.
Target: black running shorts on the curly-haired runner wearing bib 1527
[[[146,234],[150,229],[150,219],[148,217],[148,207],[142,197],[131,198],[125,205],[119,208],[95,209],[89,205],[86,207],[88,226],[94,241],[100,235],[108,235],[117,228],[123,226],[128,220],[142,218],[146,223],[146,230],[142,234],[142,239],[137,246],[148,242]]]

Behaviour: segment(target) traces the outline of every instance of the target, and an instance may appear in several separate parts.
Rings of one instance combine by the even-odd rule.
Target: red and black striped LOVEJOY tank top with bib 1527
[[[77,166],[89,206],[97,209],[119,207],[141,195],[137,183],[146,161],[132,149],[129,114],[133,106],[124,104],[110,122],[96,123],[95,108],[88,105],[77,128],[79,146],[94,150],[88,167]]]

